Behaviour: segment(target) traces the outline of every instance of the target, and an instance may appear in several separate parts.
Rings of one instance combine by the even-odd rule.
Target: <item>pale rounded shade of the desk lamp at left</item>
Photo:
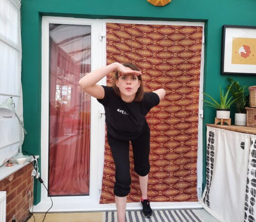
[[[14,102],[11,97],[0,104],[0,120],[13,120],[15,118]]]

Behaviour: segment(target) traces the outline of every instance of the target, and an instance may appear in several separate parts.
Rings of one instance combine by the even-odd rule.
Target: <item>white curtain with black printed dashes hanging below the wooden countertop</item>
[[[256,186],[254,177],[256,173],[247,175],[249,152],[252,147],[251,137],[253,136],[207,127],[206,187],[201,198],[201,205],[219,221],[243,222],[245,215],[248,219],[247,212],[250,209],[245,213],[245,205],[249,206],[251,198],[247,192],[248,183],[252,184],[250,186]],[[253,153],[249,165],[252,163],[256,169],[255,157],[256,154]],[[249,176],[252,178],[249,179]],[[248,181],[253,181],[253,183]],[[255,194],[256,190],[253,190],[252,196],[255,197]],[[245,204],[246,195],[248,201]],[[255,201],[252,204],[254,203]],[[251,205],[251,212],[253,205]],[[253,221],[255,220],[248,220],[248,222]]]

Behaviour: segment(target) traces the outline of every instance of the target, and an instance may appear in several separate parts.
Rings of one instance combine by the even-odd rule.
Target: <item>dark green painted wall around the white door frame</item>
[[[40,154],[41,128],[41,21],[42,16],[121,18],[136,20],[204,21],[205,63],[204,92],[219,94],[219,84],[226,87],[227,75],[220,75],[221,27],[256,26],[256,0],[172,0],[165,7],[155,7],[146,0],[21,0],[22,87],[24,124],[28,134],[24,148]],[[255,76],[232,75],[241,85],[256,85]],[[206,123],[213,123],[215,111],[204,107],[203,138]],[[231,114],[233,117],[233,114]],[[46,123],[47,124],[47,123]],[[204,168],[205,168],[204,139]],[[40,164],[40,160],[39,160]],[[205,186],[205,169],[203,171]],[[40,201],[37,183],[35,204]]]

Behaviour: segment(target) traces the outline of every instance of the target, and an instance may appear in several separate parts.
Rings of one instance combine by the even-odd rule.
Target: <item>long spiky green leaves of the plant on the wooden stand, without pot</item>
[[[233,83],[230,85],[232,86]],[[230,88],[229,88],[230,89]],[[216,108],[216,109],[219,109],[219,110],[229,110],[230,106],[236,102],[236,99],[234,98],[233,99],[233,96],[231,96],[229,99],[228,99],[228,96],[229,96],[229,89],[228,91],[226,92],[226,94],[224,95],[224,91],[221,90],[221,85],[219,85],[219,98],[220,98],[220,103],[217,102],[215,99],[213,99],[209,94],[206,94],[206,93],[203,93],[205,94],[206,96],[208,96],[212,102],[209,102],[207,100],[203,100],[203,102],[206,102],[208,104],[206,104],[206,106],[210,106],[210,107],[213,107],[213,108]]]

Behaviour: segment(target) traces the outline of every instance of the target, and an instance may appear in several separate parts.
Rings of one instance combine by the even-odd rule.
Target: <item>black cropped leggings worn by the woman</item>
[[[149,173],[149,142],[150,129],[146,124],[144,132],[136,139],[131,140],[134,171],[139,176],[146,176]],[[108,133],[108,142],[116,166],[116,182],[114,194],[116,196],[127,196],[130,192],[131,176],[129,162],[129,141],[115,139]]]

